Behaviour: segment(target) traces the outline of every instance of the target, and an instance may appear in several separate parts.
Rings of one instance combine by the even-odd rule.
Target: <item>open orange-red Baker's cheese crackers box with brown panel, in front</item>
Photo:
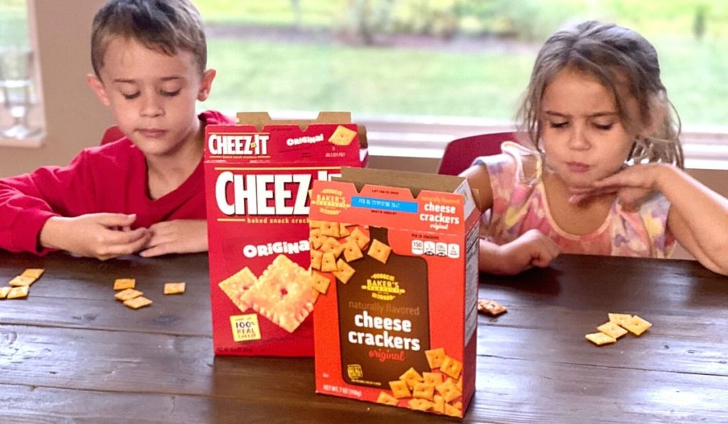
[[[317,393],[462,417],[478,324],[467,180],[344,168],[311,199]]]

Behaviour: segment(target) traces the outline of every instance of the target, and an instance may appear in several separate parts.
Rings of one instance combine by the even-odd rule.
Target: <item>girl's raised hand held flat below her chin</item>
[[[590,188],[572,188],[569,203],[576,204],[603,194],[616,193],[622,208],[628,211],[639,209],[651,193],[659,190],[660,169],[665,164],[638,164],[622,169],[616,174],[592,183]]]

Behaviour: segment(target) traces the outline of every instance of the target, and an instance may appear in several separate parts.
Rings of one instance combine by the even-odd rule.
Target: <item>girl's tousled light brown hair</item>
[[[684,167],[680,118],[660,80],[657,51],[635,31],[593,20],[553,33],[539,50],[518,111],[521,131],[535,148],[540,150],[544,91],[565,68],[593,76],[612,92],[622,125],[635,139],[628,160]],[[630,116],[628,96],[637,101],[639,116]],[[643,134],[648,127],[652,134]]]

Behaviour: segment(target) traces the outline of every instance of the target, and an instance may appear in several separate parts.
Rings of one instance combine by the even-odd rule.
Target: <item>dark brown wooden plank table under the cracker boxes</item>
[[[0,252],[0,281],[46,268],[27,300],[0,300],[0,421],[440,422],[314,394],[312,359],[213,356],[207,256]],[[134,277],[154,305],[114,300]],[[187,281],[184,295],[162,283]],[[691,261],[562,255],[545,270],[482,276],[478,378],[467,422],[728,421],[728,279]],[[654,327],[597,347],[608,312]]]

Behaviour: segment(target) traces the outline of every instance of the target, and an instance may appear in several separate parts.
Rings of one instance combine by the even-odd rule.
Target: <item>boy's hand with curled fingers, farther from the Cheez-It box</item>
[[[40,244],[100,260],[138,252],[149,240],[146,228],[130,230],[136,215],[98,213],[52,217],[39,234]]]

